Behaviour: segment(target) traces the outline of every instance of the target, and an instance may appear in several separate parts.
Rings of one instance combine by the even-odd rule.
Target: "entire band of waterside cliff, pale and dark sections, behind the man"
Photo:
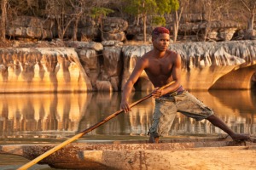
[[[1,93],[119,91],[151,45],[66,42],[69,48],[2,48]],[[184,88],[250,89],[255,80],[256,41],[183,42]],[[152,90],[145,73],[135,90]]]

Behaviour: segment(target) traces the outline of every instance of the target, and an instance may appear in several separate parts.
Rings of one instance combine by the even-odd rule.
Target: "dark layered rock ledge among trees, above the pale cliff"
[[[172,14],[166,14],[166,28],[173,30]],[[152,16],[148,16],[147,41],[151,41]],[[79,20],[76,37],[82,42],[91,41],[119,41],[125,40],[143,41],[143,21],[128,22],[120,17],[105,17],[102,26],[90,17]],[[102,28],[101,28],[102,27]],[[74,26],[71,24],[65,31],[65,38],[72,38]],[[230,20],[206,20],[204,14],[183,14],[179,23],[178,39],[186,41],[230,41],[234,39],[255,39],[255,30],[244,31],[239,23]],[[44,20],[32,16],[17,16],[9,20],[6,35],[9,37],[23,37],[27,39],[58,37],[58,26],[54,19]],[[234,36],[238,35],[238,36]]]

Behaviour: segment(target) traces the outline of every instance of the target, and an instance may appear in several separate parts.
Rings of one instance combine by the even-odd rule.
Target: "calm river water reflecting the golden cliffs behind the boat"
[[[212,108],[237,133],[256,136],[256,92],[254,90],[215,90],[190,92]],[[146,93],[133,93],[131,102]],[[74,134],[119,111],[120,93],[84,94],[0,94],[0,144],[61,143]],[[105,122],[81,139],[148,139],[154,109],[150,98]],[[171,136],[215,136],[224,134],[218,127],[177,113]],[[79,141],[78,140],[78,141]],[[15,169],[28,160],[0,154],[0,169]],[[30,169],[51,169],[35,165]]]

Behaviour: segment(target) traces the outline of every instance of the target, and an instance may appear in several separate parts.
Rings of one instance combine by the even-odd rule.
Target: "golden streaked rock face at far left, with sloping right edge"
[[[1,93],[90,91],[73,48],[1,49]]]

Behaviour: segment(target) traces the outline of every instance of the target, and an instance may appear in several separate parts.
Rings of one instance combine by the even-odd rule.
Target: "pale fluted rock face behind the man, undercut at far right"
[[[123,48],[125,58],[122,87],[125,85],[127,78],[130,77],[137,59],[151,48],[151,46]],[[182,84],[187,89],[250,88],[251,77],[253,77],[253,72],[256,71],[256,46],[254,41],[175,43],[171,44],[170,49],[181,54],[183,60]],[[235,72],[237,69],[242,69],[245,72],[238,74],[239,71]],[[213,86],[215,82],[220,80],[220,77],[224,77],[230,72],[237,75],[236,81],[231,77],[225,78],[220,85]],[[234,74],[230,75],[234,77]],[[246,80],[242,75],[247,75]],[[145,84],[145,80],[147,82],[147,77],[144,72],[140,80],[143,80],[143,84]],[[146,90],[151,88],[151,86],[152,85],[148,85],[148,87],[143,86],[141,89]],[[141,86],[138,85],[138,87]]]

